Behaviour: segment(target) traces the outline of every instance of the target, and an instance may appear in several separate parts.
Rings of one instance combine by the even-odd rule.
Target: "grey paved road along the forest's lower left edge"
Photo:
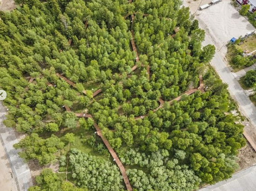
[[[32,186],[30,170],[27,164],[24,163],[23,159],[19,157],[19,151],[13,148],[13,144],[18,143],[19,140],[16,137],[14,129],[7,128],[3,124],[5,115],[6,108],[3,107],[0,102],[0,140],[4,146],[7,159],[9,160],[12,168],[18,191],[27,191],[27,189]],[[10,174],[8,173],[5,176],[10,176]],[[3,185],[0,186],[3,188]],[[2,190],[1,188],[0,190]]]

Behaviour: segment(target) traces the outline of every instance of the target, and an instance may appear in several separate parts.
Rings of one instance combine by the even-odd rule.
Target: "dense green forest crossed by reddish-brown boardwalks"
[[[205,32],[180,0],[16,3],[0,12],[4,123],[27,134],[15,145],[22,158],[60,165],[56,173],[44,169],[29,191],[125,190],[94,121],[75,113],[93,116],[133,190],[193,191],[235,171],[243,126],[208,66],[214,46],[201,46]],[[200,75],[205,92],[167,102],[197,88]],[[159,99],[165,103],[157,109]]]

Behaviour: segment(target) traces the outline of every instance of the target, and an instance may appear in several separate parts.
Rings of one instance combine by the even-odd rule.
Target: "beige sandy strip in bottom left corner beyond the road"
[[[17,191],[13,172],[2,143],[0,143],[0,187],[1,191]]]

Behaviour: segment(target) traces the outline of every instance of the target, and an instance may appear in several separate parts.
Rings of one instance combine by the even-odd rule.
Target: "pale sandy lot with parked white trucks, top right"
[[[241,15],[230,0],[222,0],[222,2],[210,6],[204,10],[198,10],[199,6],[209,3],[210,0],[186,0],[185,6],[189,6],[190,12],[199,20],[200,25],[210,34],[217,51],[225,49],[225,44],[232,37],[245,35],[252,32],[255,28]],[[224,50],[225,51],[225,50]],[[225,52],[223,52],[225,53]]]

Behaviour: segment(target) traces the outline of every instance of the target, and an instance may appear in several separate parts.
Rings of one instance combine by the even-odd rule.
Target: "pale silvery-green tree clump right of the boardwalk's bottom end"
[[[139,191],[193,191],[198,188],[200,178],[196,177],[192,170],[188,170],[188,166],[179,166],[177,159],[168,160],[168,151],[152,153],[147,158],[149,163],[145,167],[149,171],[148,175],[141,170],[128,170],[132,184]]]

